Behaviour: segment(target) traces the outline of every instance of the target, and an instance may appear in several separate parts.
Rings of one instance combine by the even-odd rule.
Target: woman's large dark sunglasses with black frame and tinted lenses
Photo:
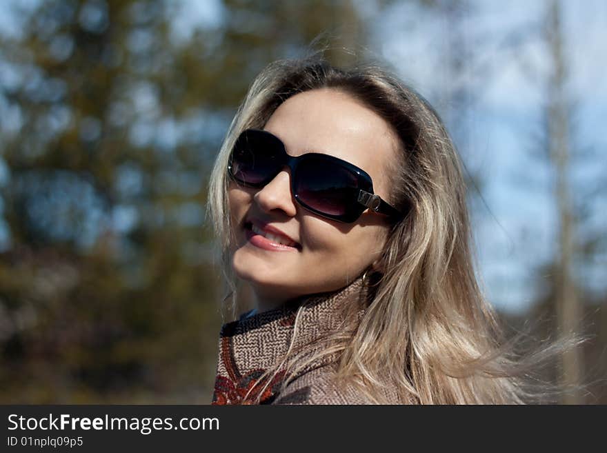
[[[293,197],[321,217],[351,223],[367,208],[396,219],[404,217],[373,194],[371,177],[364,170],[328,154],[308,152],[292,157],[282,141],[265,130],[247,129],[239,135],[228,174],[243,186],[261,188],[285,165],[291,170]]]

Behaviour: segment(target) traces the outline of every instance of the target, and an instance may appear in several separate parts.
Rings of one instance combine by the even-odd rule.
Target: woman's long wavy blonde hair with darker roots
[[[372,403],[387,402],[386,386],[404,403],[527,401],[529,365],[550,351],[521,361],[512,343],[504,341],[475,276],[466,182],[455,146],[430,104],[377,63],[337,68],[312,54],[275,61],[250,85],[215,161],[208,192],[228,296],[238,286],[230,266],[230,150],[241,131],[263,128],[286,99],[317,88],[362,101],[397,132],[400,159],[388,175],[388,202],[408,215],[390,228],[364,316],[346,316],[344,328],[325,339],[328,347],[313,357],[304,360],[290,348],[268,373],[282,369],[293,376],[320,355],[336,354],[337,381],[357,385]],[[294,338],[301,310],[305,307],[297,313]]]

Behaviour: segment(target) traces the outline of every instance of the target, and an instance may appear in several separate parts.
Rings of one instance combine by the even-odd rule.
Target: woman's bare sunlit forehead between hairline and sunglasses
[[[320,152],[357,165],[368,172],[377,193],[395,153],[390,125],[349,94],[330,88],[290,97],[264,129],[279,137],[292,156]]]

